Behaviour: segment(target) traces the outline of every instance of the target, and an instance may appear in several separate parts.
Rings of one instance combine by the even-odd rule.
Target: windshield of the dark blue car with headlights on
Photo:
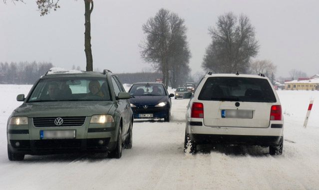
[[[131,95],[166,95],[161,84],[133,84],[129,93]]]

